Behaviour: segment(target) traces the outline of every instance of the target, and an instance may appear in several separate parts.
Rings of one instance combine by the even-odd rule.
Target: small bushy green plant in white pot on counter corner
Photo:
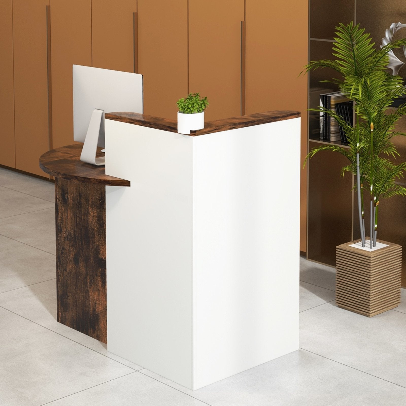
[[[199,93],[189,93],[186,98],[177,102],[178,107],[178,132],[190,134],[190,130],[204,128],[204,110],[209,104],[207,97],[200,97]]]

